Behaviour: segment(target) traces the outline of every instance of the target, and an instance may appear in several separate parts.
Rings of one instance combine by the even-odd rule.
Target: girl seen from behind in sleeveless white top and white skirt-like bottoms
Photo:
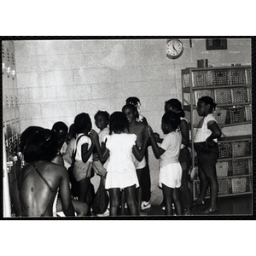
[[[110,195],[110,215],[116,216],[119,211],[119,198],[124,189],[127,206],[131,215],[138,215],[136,202],[136,188],[139,186],[136,168],[131,155],[142,160],[147,143],[147,134],[144,133],[144,143],[141,150],[137,146],[137,136],[127,134],[128,120],[122,112],[114,112],[109,119],[110,134],[106,136],[106,148],[102,150],[96,131],[90,132],[90,137],[96,145],[99,158],[102,162],[108,159],[105,188]]]

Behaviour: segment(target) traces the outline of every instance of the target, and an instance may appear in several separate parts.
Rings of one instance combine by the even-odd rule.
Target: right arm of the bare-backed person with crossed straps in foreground
[[[66,170],[63,170],[61,172],[62,180],[60,185],[60,197],[61,197],[62,210],[66,216],[75,216],[73,204],[71,202],[68,172],[67,171],[65,172],[65,171]]]

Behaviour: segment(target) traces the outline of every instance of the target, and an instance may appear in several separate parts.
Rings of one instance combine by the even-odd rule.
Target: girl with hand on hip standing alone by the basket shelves
[[[210,185],[211,202],[210,206],[201,210],[200,213],[208,214],[218,212],[218,179],[216,173],[216,163],[218,159],[217,139],[221,136],[221,131],[217,121],[212,114],[212,109],[216,108],[216,103],[209,96],[203,96],[197,102],[197,112],[203,118],[197,126],[194,139],[194,147],[198,157],[198,174],[200,178],[200,195],[194,205],[203,205]]]

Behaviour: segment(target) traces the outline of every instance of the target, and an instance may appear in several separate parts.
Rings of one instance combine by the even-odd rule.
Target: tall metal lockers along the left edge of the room
[[[11,217],[15,213],[11,204],[10,192],[12,183],[20,171],[20,107],[17,103],[15,45],[12,41],[2,41],[2,80],[4,217]]]

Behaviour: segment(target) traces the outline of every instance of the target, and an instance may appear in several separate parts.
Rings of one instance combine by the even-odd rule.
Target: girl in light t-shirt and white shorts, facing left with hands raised
[[[166,215],[172,215],[172,202],[175,205],[176,214],[182,215],[182,204],[179,198],[179,188],[182,180],[182,166],[178,157],[182,143],[182,134],[178,130],[180,118],[177,113],[167,111],[162,117],[162,131],[166,134],[160,147],[155,142],[154,134],[149,127],[149,136],[154,155],[160,159],[159,185],[163,189]]]

